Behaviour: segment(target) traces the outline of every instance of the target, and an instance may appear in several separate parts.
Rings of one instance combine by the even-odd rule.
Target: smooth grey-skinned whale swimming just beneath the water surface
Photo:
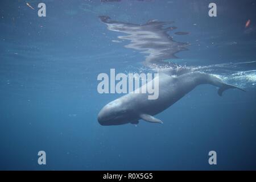
[[[139,119],[143,119],[148,122],[163,123],[153,115],[167,109],[201,84],[219,87],[218,94],[220,96],[226,89],[243,90],[237,86],[225,84],[220,78],[206,73],[190,72],[175,77],[160,73],[158,99],[148,100],[147,93],[128,93],[105,105],[98,114],[98,122],[101,125],[123,125],[126,123],[137,124]],[[142,86],[146,86],[146,84]]]

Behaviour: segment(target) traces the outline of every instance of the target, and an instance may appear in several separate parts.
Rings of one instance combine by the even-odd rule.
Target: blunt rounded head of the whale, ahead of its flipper
[[[114,100],[105,105],[98,113],[98,122],[101,125],[123,125],[129,123],[129,111],[123,107],[121,100]]]

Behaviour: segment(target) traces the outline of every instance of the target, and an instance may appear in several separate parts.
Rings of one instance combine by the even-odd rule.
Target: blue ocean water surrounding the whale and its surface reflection
[[[40,2],[0,2],[0,169],[256,169],[255,1],[215,1],[217,17],[208,15],[211,1],[45,0],[46,17],[38,16]],[[98,74],[139,72],[145,55],[125,48],[124,34],[99,15],[175,21],[189,34],[170,35],[190,46],[173,61],[206,67],[246,92],[220,97],[200,85],[156,115],[163,125],[101,126],[98,112],[121,95],[99,94]],[[208,163],[211,150],[217,165]]]

